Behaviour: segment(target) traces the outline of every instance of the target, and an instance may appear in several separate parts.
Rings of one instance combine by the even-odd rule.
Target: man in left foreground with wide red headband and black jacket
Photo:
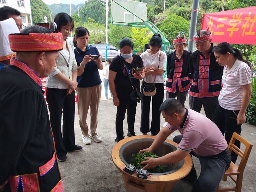
[[[17,55],[0,71],[0,191],[59,192],[62,180],[40,78],[55,66],[62,34],[39,26],[22,32],[9,35]]]

